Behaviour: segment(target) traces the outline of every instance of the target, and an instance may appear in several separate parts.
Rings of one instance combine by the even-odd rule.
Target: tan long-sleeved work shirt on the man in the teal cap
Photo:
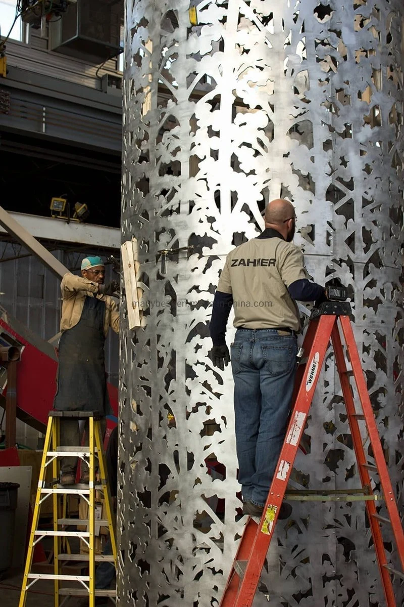
[[[115,333],[119,333],[119,310],[118,306],[109,295],[98,294],[98,283],[91,282],[87,278],[65,274],[62,283],[62,318],[61,331],[67,331],[75,327],[81,319],[86,297],[97,297],[105,302],[104,334],[107,337],[108,329],[111,327]]]

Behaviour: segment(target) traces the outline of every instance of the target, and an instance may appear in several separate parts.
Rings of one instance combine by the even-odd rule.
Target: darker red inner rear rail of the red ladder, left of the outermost
[[[349,317],[345,317],[349,321]],[[342,319],[342,317],[341,317]],[[354,452],[356,455],[357,468],[359,472],[360,482],[363,489],[367,489],[370,494],[373,494],[371,489],[371,478],[368,470],[365,468],[366,465],[366,454],[363,449],[362,435],[360,433],[359,422],[354,414],[356,413],[353,393],[351,384],[349,383],[348,375],[346,375],[346,363],[343,354],[342,341],[340,338],[339,330],[337,325],[334,326],[333,333],[331,334],[333,340],[334,355],[336,358],[336,366],[340,383],[342,387],[343,399],[345,401],[346,413],[348,413],[349,429],[351,430],[351,436],[353,439]],[[360,368],[362,372],[362,367]],[[366,388],[367,393],[367,388]],[[396,600],[394,599],[394,589],[391,583],[391,577],[384,565],[387,565],[386,552],[383,545],[382,532],[380,525],[375,515],[377,515],[376,504],[374,500],[365,501],[366,511],[368,513],[369,526],[374,542],[374,550],[377,557],[377,566],[379,567],[380,578],[382,580],[383,591],[385,593],[386,605],[388,607],[396,607]]]

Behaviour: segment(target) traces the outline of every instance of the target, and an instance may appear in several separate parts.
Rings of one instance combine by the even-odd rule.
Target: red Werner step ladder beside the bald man
[[[388,469],[383,455],[382,444],[380,443],[379,432],[377,431],[376,419],[374,418],[372,405],[366,387],[366,380],[363,374],[360,357],[356,347],[353,329],[349,314],[351,306],[348,302],[325,302],[319,309],[313,311],[308,325],[308,330],[303,341],[303,352],[307,355],[306,363],[301,364],[297,370],[296,385],[293,401],[295,405],[291,412],[290,424],[286,431],[285,442],[280,452],[276,467],[276,473],[268,493],[262,518],[248,518],[244,528],[243,536],[237,549],[236,557],[231,566],[230,575],[227,580],[220,607],[251,607],[257,586],[260,581],[260,575],[267,557],[273,537],[274,528],[277,521],[280,505],[285,496],[288,480],[296,458],[297,449],[299,449],[300,438],[305,428],[307,415],[313,400],[314,390],[316,390],[317,381],[320,376],[320,370],[325,359],[326,349],[329,340],[333,343],[334,354],[336,358],[337,370],[342,386],[343,398],[348,413],[349,427],[353,439],[354,450],[356,454],[357,466],[359,470],[362,493],[360,497],[358,490],[355,498],[360,497],[365,501],[368,514],[369,525],[373,535],[374,549],[376,551],[377,563],[379,565],[380,577],[385,593],[387,607],[397,607],[394,599],[392,586],[392,577],[394,575],[404,578],[404,534],[400,521],[399,511],[394,498],[394,490],[389,478]],[[347,369],[345,354],[343,351],[342,339],[346,345],[346,358],[351,369]],[[353,376],[357,393],[359,395],[361,410],[356,410],[353,390],[349,378]],[[360,433],[359,421],[364,420],[371,447],[373,450],[374,464],[368,464],[365,450],[363,449],[362,437]],[[383,495],[377,495],[371,487],[371,478],[369,472],[379,475]],[[294,492],[296,493],[296,492]],[[310,492],[306,492],[310,493]],[[316,492],[315,492],[316,493]],[[320,492],[325,495],[325,491]],[[328,492],[339,493],[339,492]],[[346,493],[350,493],[348,490]],[[286,495],[287,499],[287,495]],[[380,517],[376,510],[376,501],[384,500],[388,517]],[[385,549],[383,546],[382,532],[380,524],[391,524],[392,532],[396,540],[396,548],[400,557],[402,571],[396,571],[386,560]]]

